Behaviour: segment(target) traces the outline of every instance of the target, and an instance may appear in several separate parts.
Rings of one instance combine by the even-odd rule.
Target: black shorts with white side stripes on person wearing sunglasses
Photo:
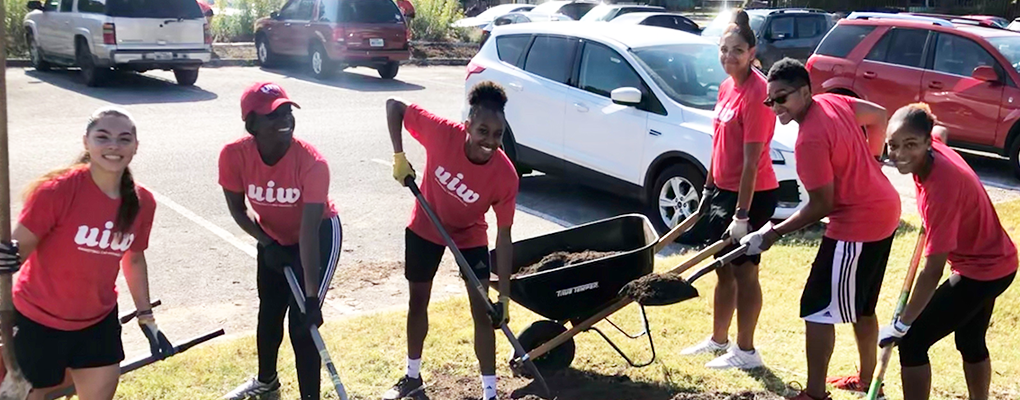
[[[895,235],[877,242],[822,237],[801,296],[801,317],[836,324],[874,315]]]

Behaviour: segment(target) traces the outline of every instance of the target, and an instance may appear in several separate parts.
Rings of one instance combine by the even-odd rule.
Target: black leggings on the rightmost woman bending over
[[[928,349],[954,332],[964,362],[988,359],[984,334],[991,321],[991,310],[996,298],[1009,288],[1014,277],[1016,272],[986,282],[960,277],[956,285],[942,283],[900,342],[900,365],[928,364]]]

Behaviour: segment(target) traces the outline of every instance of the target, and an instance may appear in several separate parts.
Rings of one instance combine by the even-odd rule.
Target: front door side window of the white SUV
[[[610,97],[613,90],[619,88],[635,88],[645,92],[641,77],[623,56],[595,43],[584,45],[577,84],[581,90],[605,97]]]

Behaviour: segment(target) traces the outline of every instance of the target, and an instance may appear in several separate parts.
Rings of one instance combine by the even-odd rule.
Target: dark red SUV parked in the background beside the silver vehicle
[[[290,0],[255,22],[262,65],[303,57],[316,78],[349,66],[375,68],[392,80],[411,58],[410,31],[393,0]]]

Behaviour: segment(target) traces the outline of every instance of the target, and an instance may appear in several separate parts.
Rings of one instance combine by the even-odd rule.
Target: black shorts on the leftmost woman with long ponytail
[[[113,308],[96,324],[81,331],[55,330],[14,311],[14,356],[24,378],[37,389],[60,385],[66,368],[94,368],[124,359],[120,320]]]

